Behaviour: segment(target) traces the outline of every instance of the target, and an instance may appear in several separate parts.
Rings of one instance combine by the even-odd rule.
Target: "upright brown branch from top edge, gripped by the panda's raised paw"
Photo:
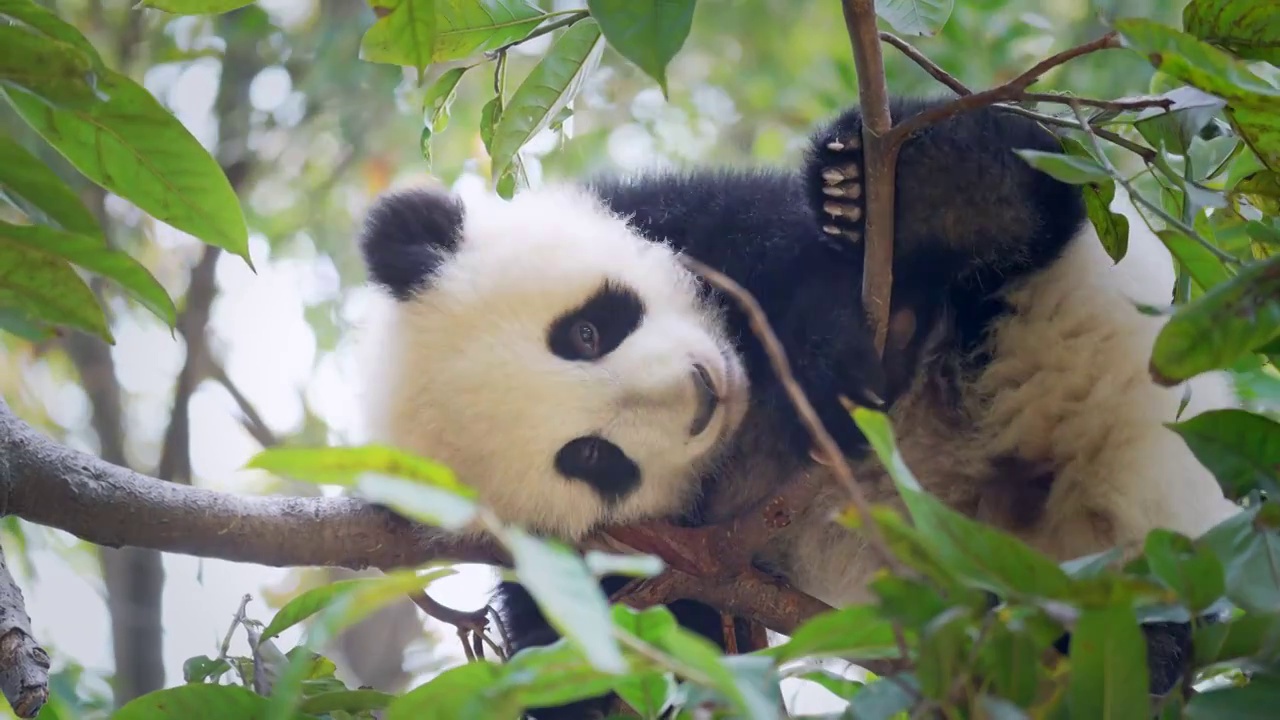
[[[842,0],[845,28],[854,47],[858,97],[863,110],[863,164],[867,170],[867,219],[863,249],[863,307],[870,318],[876,351],[888,338],[893,291],[893,176],[900,142],[891,142],[892,119],[884,86],[884,59],[876,29],[874,0]]]

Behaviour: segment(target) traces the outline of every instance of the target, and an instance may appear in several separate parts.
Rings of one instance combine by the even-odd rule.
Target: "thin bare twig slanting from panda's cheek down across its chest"
[[[814,411],[813,405],[809,404],[809,398],[805,397],[800,383],[796,382],[795,374],[791,372],[791,363],[787,360],[786,351],[782,348],[782,343],[778,342],[777,334],[773,333],[773,328],[769,327],[769,322],[764,315],[764,310],[760,307],[760,304],[756,302],[756,300],[751,297],[751,293],[749,293],[742,286],[733,282],[726,274],[714,270],[687,255],[682,255],[681,260],[694,273],[701,275],[707,279],[707,282],[731,296],[746,314],[748,322],[751,325],[751,332],[760,338],[760,343],[764,346],[764,351],[769,356],[773,372],[782,383],[782,387],[786,389],[787,397],[791,400],[796,413],[800,415],[800,420],[813,436],[819,452],[829,460],[831,469],[835,471],[836,478],[842,486],[845,486],[854,506],[865,519],[863,527],[867,532],[868,542],[872,548],[877,555],[879,555],[881,561],[883,561],[886,566],[895,570],[895,573],[905,574],[905,566],[888,550],[888,544],[884,543],[879,525],[876,524],[872,516],[870,502],[868,502],[867,496],[863,495],[863,488],[858,484],[858,480],[854,479],[854,471],[849,468],[849,462],[845,460],[845,454],[841,452],[840,446],[836,445],[831,433],[827,432],[827,428],[818,418],[818,413]]]

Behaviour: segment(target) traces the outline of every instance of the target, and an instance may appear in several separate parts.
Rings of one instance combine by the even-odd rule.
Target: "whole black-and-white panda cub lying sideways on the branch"
[[[938,101],[897,100],[893,122]],[[1148,377],[1165,320],[1135,304],[1169,304],[1169,255],[1134,217],[1114,264],[1079,188],[1014,152],[1060,151],[1034,120],[987,108],[904,145],[877,359],[859,301],[860,132],[846,110],[796,172],[383,197],[362,234],[387,296],[366,368],[376,438],[448,464],[506,520],[571,541],[603,524],[717,521],[796,475],[826,477],[745,316],[685,269],[689,254],[760,301],[873,502],[899,501],[840,396],[888,407],[928,491],[1059,560],[1132,548],[1157,527],[1194,537],[1234,512],[1164,427],[1185,388]],[[1219,375],[1192,386],[1183,418],[1233,402]],[[828,520],[844,498],[827,486],[756,561],[831,605],[870,600],[876,560]],[[513,651],[556,639],[520,585],[498,594]],[[672,611],[722,642],[713,610]],[[1152,689],[1165,692],[1179,643],[1165,652],[1156,635]]]

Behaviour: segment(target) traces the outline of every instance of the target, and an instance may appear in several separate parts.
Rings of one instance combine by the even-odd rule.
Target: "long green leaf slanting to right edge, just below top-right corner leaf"
[[[1280,88],[1243,61],[1184,32],[1140,18],[1116,20],[1115,28],[1125,46],[1140,53],[1156,69],[1233,105],[1267,110],[1280,101]]]

